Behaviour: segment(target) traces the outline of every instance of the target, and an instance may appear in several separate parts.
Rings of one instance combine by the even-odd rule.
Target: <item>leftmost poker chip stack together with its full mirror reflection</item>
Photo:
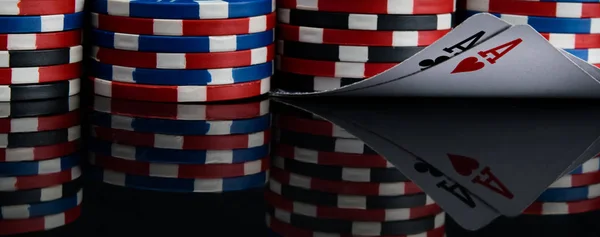
[[[80,215],[83,5],[0,1],[0,235]]]

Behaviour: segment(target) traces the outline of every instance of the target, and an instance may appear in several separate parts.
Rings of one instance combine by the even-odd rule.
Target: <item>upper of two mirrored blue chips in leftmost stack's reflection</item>
[[[77,154],[49,160],[0,162],[0,177],[57,173],[71,169],[79,165],[79,163],[80,158]]]

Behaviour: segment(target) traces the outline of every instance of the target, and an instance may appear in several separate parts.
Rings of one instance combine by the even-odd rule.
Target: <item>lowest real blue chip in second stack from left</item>
[[[130,68],[91,61],[92,75],[108,81],[173,86],[225,85],[257,81],[273,75],[273,62],[207,70]]]

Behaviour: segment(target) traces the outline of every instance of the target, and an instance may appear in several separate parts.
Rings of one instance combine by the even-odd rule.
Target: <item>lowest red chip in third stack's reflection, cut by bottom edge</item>
[[[266,214],[266,222],[267,226],[275,233],[280,234],[285,237],[315,237],[315,236],[336,236],[336,237],[356,237],[351,234],[339,234],[339,233],[323,233],[313,230],[307,230],[295,227],[291,224],[285,223],[283,221],[277,220],[277,218],[272,217],[270,214]],[[386,235],[386,236],[377,236],[377,237],[414,237],[415,235]],[[427,231],[425,233],[421,233],[418,235],[419,237],[445,237],[446,236],[446,228],[445,226],[440,226],[433,230]]]

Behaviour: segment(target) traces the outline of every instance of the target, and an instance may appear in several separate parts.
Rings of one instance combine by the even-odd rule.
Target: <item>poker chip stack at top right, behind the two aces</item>
[[[529,24],[557,48],[600,66],[600,2],[589,0],[461,0],[466,16],[489,12],[512,24]]]

